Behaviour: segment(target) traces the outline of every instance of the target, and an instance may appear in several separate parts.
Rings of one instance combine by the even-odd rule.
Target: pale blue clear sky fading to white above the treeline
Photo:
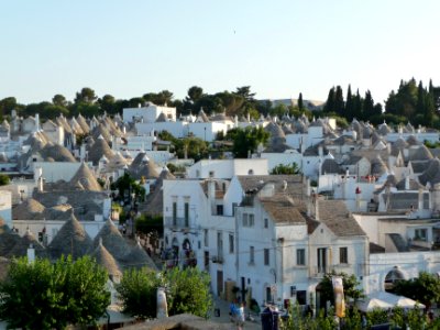
[[[0,99],[117,99],[251,86],[324,101],[351,84],[383,102],[400,79],[440,86],[438,0],[4,0]]]

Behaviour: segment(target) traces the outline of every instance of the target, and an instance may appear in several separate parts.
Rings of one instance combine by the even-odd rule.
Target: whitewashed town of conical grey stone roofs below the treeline
[[[216,299],[243,301],[251,315],[254,305],[319,314],[328,274],[354,275],[365,297],[388,298],[402,279],[438,276],[439,132],[314,116],[178,117],[152,102],[45,121],[12,111],[0,125],[10,178],[0,186],[0,278],[18,257],[90,255],[108,272],[117,310],[125,271],[196,267]],[[237,129],[268,139],[234,157],[218,138]],[[178,157],[164,132],[218,152]],[[119,185],[128,177],[133,185]],[[140,217],[162,219],[158,237],[139,230]]]

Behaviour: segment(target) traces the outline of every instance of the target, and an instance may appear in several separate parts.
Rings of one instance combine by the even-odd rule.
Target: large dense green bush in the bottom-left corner
[[[107,272],[90,257],[19,258],[0,282],[0,319],[10,328],[64,329],[90,324],[110,304]]]

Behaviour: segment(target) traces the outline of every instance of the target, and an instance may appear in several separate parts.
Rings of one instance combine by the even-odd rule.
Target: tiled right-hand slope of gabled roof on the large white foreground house
[[[365,237],[365,232],[354,220],[342,200],[317,200],[319,219],[337,237]]]

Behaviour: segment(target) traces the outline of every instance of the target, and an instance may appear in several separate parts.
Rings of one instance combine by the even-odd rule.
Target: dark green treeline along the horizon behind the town
[[[312,117],[311,111],[304,106],[302,94],[298,95],[296,106],[283,103],[273,106],[271,101],[256,100],[250,86],[238,87],[235,91],[224,90],[217,94],[206,94],[201,87],[193,86],[182,100],[175,99],[169,90],[147,92],[141,97],[127,100],[116,99],[111,95],[98,97],[94,89],[85,87],[76,92],[73,101],[59,94],[55,95],[52,101],[30,105],[19,103],[14,97],[4,98],[0,100],[0,116],[8,118],[12,110],[23,117],[40,113],[43,120],[53,119],[59,114],[72,117],[81,113],[85,117],[94,117],[102,114],[105,111],[113,116],[122,113],[124,108],[139,107],[139,105],[143,106],[146,102],[176,107],[178,116],[197,114],[200,109],[204,109],[208,116],[226,113],[227,116],[250,116],[253,119],[267,114],[278,117],[306,114],[309,118]],[[416,125],[422,124],[440,129],[439,107],[440,87],[432,86],[431,80],[428,87],[425,87],[421,81],[417,84],[416,79],[411,78],[409,81],[400,80],[397,91],[392,90],[389,92],[387,100],[385,100],[385,109],[381,103],[374,102],[370,90],[361,96],[359,89],[352,92],[349,85],[344,98],[341,86],[332,87],[329,90],[322,114],[338,117],[341,124],[346,124],[353,119],[370,121],[373,124],[384,121],[392,124],[410,121]]]

